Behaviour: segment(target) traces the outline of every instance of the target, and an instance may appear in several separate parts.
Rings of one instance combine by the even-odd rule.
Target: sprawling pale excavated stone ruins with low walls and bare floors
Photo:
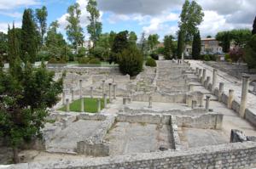
[[[144,67],[135,79],[117,68],[49,68],[56,79],[67,70],[61,101],[50,110],[44,140],[20,153],[24,164],[9,168],[188,168],[191,161],[193,168],[209,161],[217,168],[255,166],[252,100],[242,118],[241,93],[227,93],[232,78],[222,80],[224,72],[214,75],[204,66],[209,67],[157,61],[156,68]],[[103,110],[97,103],[97,113],[69,110],[70,103],[85,97],[110,103]],[[63,106],[66,111],[59,110]],[[234,129],[243,134],[230,135]]]

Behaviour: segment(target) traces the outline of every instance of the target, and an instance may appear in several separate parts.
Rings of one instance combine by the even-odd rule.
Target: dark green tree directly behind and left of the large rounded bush
[[[129,31],[120,31],[113,40],[113,46],[111,48],[111,54],[109,58],[109,63],[118,63],[118,54],[121,53],[125,48],[129,47],[128,41]]]

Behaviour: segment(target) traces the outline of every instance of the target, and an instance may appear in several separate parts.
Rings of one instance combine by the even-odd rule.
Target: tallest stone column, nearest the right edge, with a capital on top
[[[248,93],[248,86],[249,86],[249,78],[248,75],[242,75],[242,87],[241,87],[241,104],[239,115],[244,118],[245,110],[247,108],[247,93]]]

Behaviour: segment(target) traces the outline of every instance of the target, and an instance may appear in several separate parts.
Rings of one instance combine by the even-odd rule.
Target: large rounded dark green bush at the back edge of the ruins
[[[125,48],[119,54],[119,70],[130,76],[137,76],[143,70],[143,54],[137,47]]]

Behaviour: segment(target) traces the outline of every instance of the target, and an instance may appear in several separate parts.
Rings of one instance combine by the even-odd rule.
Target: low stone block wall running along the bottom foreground
[[[46,161],[7,166],[6,169],[116,169],[116,168],[253,168],[256,143],[222,144],[183,151],[164,151],[79,160]]]

